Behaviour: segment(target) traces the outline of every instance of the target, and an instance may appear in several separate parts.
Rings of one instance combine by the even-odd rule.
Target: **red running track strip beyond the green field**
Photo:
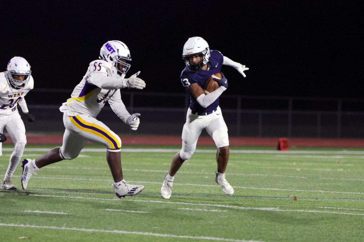
[[[139,145],[181,145],[182,139],[178,136],[123,136],[120,135],[122,144]],[[273,146],[276,147],[278,138],[252,138],[230,137],[230,145],[237,146]],[[295,147],[364,147],[364,139],[314,139],[314,138],[289,138],[289,146]],[[11,144],[11,138],[5,144]],[[62,135],[27,134],[28,144],[62,144]],[[214,141],[209,136],[201,136],[197,145],[214,146]]]

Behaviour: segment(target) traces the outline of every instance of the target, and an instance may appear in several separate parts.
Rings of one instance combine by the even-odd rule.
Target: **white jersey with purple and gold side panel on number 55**
[[[108,102],[116,115],[125,122],[130,114],[121,100],[119,90],[121,79],[111,63],[102,60],[92,61],[82,81],[73,90],[71,98],[60,107],[60,111],[69,116],[85,114],[96,117]],[[111,89],[102,88],[106,82]]]

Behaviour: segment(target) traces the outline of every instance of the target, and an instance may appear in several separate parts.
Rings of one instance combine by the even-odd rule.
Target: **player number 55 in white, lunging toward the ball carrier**
[[[75,159],[87,141],[107,148],[106,160],[114,179],[112,187],[116,196],[133,196],[144,189],[142,185],[130,185],[124,180],[120,161],[121,140],[110,128],[97,120],[96,116],[108,102],[123,122],[129,124],[132,130],[137,130],[140,114],[129,114],[121,100],[119,89],[143,89],[145,82],[137,77],[139,72],[130,78],[124,78],[130,68],[128,62],[131,61],[131,56],[123,42],[106,42],[100,50],[99,58],[100,60],[90,63],[82,81],[73,90],[71,98],[60,107],[66,127],[62,147],[56,147],[34,160],[23,160],[23,189],[27,188],[29,179],[40,168],[61,160]]]

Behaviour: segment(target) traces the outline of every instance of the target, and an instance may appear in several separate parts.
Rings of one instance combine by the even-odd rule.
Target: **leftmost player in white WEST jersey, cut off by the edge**
[[[27,137],[25,136],[24,123],[17,110],[17,104],[29,122],[35,118],[28,112],[25,95],[33,89],[34,81],[31,76],[30,65],[23,57],[13,57],[8,62],[7,71],[0,73],[0,142],[6,141],[3,134],[6,128],[14,143],[14,151],[10,156],[9,167],[1,181],[0,189],[15,190],[11,177],[23,156]],[[0,155],[2,143],[0,143]]]

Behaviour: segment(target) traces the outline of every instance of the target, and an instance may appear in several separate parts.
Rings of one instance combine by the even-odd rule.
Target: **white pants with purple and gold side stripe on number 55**
[[[76,116],[63,114],[63,123],[66,127],[60,149],[60,155],[63,159],[75,159],[87,141],[102,144],[107,147],[108,151],[120,151],[121,140],[119,136],[93,117],[83,114]]]

